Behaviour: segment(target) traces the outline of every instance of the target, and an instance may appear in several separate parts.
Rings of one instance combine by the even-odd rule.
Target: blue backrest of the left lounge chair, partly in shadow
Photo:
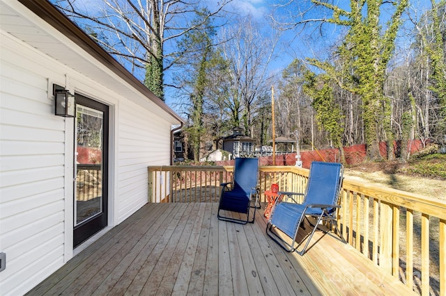
[[[249,196],[259,179],[259,158],[236,158],[233,172],[233,191],[243,191]]]

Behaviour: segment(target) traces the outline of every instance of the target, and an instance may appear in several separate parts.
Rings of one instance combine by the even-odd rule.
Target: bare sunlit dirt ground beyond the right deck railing
[[[446,181],[440,179],[422,178],[397,173],[407,164],[398,162],[363,163],[344,170],[348,179],[377,183],[386,187],[414,192],[426,197],[443,199],[446,201]]]

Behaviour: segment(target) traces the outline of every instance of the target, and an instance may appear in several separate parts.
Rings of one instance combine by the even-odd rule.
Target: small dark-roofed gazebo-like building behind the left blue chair
[[[256,140],[244,134],[241,127],[233,129],[233,134],[222,138],[223,150],[232,154],[233,158],[249,156],[254,152]]]

